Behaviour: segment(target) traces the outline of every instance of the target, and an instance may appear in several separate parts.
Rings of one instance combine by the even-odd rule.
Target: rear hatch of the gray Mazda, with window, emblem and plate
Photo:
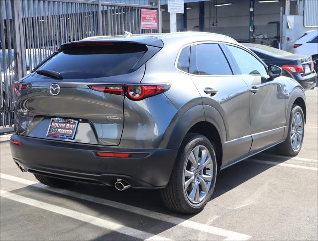
[[[125,96],[96,89],[140,83],[145,62],[159,50],[121,41],[61,46],[59,53],[23,80],[30,87],[19,93],[16,131],[36,138],[118,145]]]

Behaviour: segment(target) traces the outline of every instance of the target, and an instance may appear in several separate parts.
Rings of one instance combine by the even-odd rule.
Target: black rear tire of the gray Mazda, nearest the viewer
[[[200,146],[199,151],[201,150],[200,148],[204,149],[204,147],[207,148],[207,150],[209,151],[209,154],[211,157],[211,164],[209,165],[208,171],[211,173],[211,183],[209,184],[210,187],[208,192],[204,192],[204,193],[207,193],[205,195],[205,198],[200,203],[194,204],[189,200],[188,194],[186,193],[187,192],[186,187],[184,187],[185,185],[184,171],[185,171],[185,168],[187,168],[186,165],[188,165],[188,162],[189,162],[188,159],[192,150],[194,150],[194,148],[197,146]],[[200,153],[202,155],[202,152]],[[207,171],[207,169],[204,169],[204,170],[205,172]],[[203,173],[204,171],[201,171],[201,172]],[[198,172],[196,173],[198,174]],[[179,153],[175,161],[170,180],[167,186],[161,189],[162,199],[165,205],[172,211],[185,213],[185,214],[193,214],[193,213],[200,212],[202,211],[204,206],[207,204],[207,202],[211,198],[211,195],[213,193],[215,183],[216,183],[216,176],[217,176],[217,162],[216,162],[216,155],[215,155],[213,145],[203,135],[193,134],[193,133],[188,134],[185,137],[184,142],[182,143],[179,149]],[[194,179],[195,178],[199,180],[197,176],[194,176]],[[192,185],[192,183],[190,185]],[[200,187],[199,184],[198,184],[198,187]],[[193,188],[193,186],[191,186],[191,188]]]

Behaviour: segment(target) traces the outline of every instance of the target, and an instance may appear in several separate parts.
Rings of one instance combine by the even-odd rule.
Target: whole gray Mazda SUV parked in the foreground
[[[15,83],[11,151],[42,183],[161,189],[195,213],[217,173],[272,146],[297,155],[303,88],[230,37],[170,33],[63,44]]]

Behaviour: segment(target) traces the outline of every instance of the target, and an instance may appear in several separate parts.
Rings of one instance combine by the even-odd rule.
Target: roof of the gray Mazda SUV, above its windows
[[[158,41],[164,44],[178,41],[180,44],[192,43],[196,41],[221,41],[228,43],[238,42],[233,38],[216,33],[207,32],[177,32],[177,33],[153,33],[153,34],[133,34],[118,36],[94,36],[82,39],[81,41],[127,41],[149,44],[157,47],[160,45]]]

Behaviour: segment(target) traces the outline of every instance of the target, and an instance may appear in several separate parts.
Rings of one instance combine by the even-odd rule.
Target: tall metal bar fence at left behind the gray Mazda
[[[140,9],[156,7],[101,0],[0,0],[0,133],[13,130],[15,81],[63,43],[124,31],[157,32],[141,29]]]

